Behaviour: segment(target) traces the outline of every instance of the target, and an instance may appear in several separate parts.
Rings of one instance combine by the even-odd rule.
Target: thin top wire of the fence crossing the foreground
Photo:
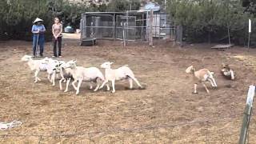
[[[142,131],[142,130],[156,130],[159,128],[167,128],[167,127],[175,127],[175,126],[186,126],[186,125],[195,125],[195,124],[202,124],[205,123],[206,130],[209,132],[209,124],[210,122],[226,122],[226,120],[229,120],[230,118],[242,118],[242,114],[231,114],[228,116],[224,116],[221,118],[209,118],[207,120],[198,120],[198,121],[191,121],[191,122],[178,122],[178,123],[172,123],[172,124],[162,124],[162,125],[151,125],[151,126],[142,126],[138,128],[130,128],[130,129],[123,129],[123,128],[110,128],[107,130],[95,130],[95,131],[83,131],[73,134],[0,134],[0,137],[38,137],[39,139],[42,139],[42,137],[72,137],[72,136],[78,136],[78,135],[94,135],[94,134],[111,134],[114,132],[136,132],[136,131]],[[154,134],[155,135],[155,134]],[[209,134],[206,134],[206,137],[208,137]],[[208,138],[207,138],[208,139]]]

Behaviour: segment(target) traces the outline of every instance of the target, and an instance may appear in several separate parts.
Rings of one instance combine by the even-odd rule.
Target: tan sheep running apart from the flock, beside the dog
[[[217,84],[214,80],[213,72],[210,72],[210,70],[207,69],[201,69],[198,71],[195,71],[193,66],[189,66],[186,69],[186,73],[190,73],[194,75],[194,94],[198,94],[197,92],[197,86],[198,82],[202,83],[202,86],[206,88],[206,92],[209,94],[209,90],[206,87],[205,82],[210,82],[211,86],[217,87]]]

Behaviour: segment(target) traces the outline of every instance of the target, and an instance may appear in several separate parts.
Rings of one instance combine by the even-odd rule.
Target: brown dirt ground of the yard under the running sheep
[[[64,39],[63,46],[58,59],[76,59],[78,66],[129,65],[146,90],[127,90],[128,82],[116,82],[114,94],[93,92],[83,83],[79,95],[72,86],[64,93],[50,85],[45,72],[34,83],[20,60],[31,54],[31,42],[1,42],[0,122],[18,120],[22,126],[0,130],[0,143],[238,143],[246,93],[255,82],[256,50],[218,51],[208,44],[180,48],[164,41],[154,47],[129,43],[124,48],[112,41],[82,47],[78,39]],[[46,43],[44,56],[51,57],[52,49]],[[235,70],[235,81],[222,77],[222,62]],[[206,94],[199,85],[199,94],[192,94],[192,75],[185,73],[190,65],[214,71],[218,88],[208,84]],[[256,142],[254,115],[250,143]]]

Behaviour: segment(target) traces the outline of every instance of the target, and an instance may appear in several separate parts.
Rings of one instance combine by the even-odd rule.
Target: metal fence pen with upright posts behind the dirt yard
[[[182,30],[175,26],[165,12],[157,11],[150,14],[150,11],[126,11],[82,14],[81,41],[98,38],[148,42],[151,36],[154,39],[182,42]]]

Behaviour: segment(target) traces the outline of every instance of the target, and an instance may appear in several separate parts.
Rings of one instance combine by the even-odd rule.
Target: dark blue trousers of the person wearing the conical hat
[[[43,34],[34,34],[33,36],[33,55],[34,56],[36,55],[38,45],[40,46],[40,55],[42,56],[44,43],[45,43],[45,36]]]

